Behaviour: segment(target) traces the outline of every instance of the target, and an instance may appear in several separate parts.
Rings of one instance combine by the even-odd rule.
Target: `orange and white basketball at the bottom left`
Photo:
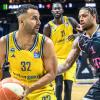
[[[24,88],[14,78],[6,78],[0,82],[0,100],[21,100]]]

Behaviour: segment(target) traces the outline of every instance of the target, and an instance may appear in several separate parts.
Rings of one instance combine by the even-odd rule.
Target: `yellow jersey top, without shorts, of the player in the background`
[[[51,39],[55,46],[57,58],[66,59],[72,47],[72,41],[68,41],[68,36],[73,34],[73,28],[68,21],[68,17],[63,16],[64,23],[56,25],[53,21],[49,22],[51,27]]]

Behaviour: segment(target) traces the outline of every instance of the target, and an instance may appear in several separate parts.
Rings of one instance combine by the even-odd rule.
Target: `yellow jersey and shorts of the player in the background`
[[[72,40],[68,40],[68,36],[73,34],[73,27],[70,24],[68,17],[63,16],[63,23],[56,25],[53,21],[49,21],[51,28],[50,38],[54,43],[58,64],[64,63],[70,50],[72,49]],[[64,79],[74,80],[76,66],[70,68],[64,73]]]

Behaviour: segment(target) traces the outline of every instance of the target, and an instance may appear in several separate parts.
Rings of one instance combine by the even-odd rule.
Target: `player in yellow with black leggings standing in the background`
[[[77,21],[72,17],[63,16],[63,7],[61,3],[56,2],[52,5],[52,14],[54,19],[49,21],[45,26],[43,33],[50,37],[54,43],[58,63],[61,64],[67,58],[71,50],[73,39],[73,28],[79,26]],[[64,80],[64,100],[71,100],[72,83],[75,77],[76,66],[64,73],[64,77],[56,77],[56,96],[57,100],[62,100],[62,88]]]

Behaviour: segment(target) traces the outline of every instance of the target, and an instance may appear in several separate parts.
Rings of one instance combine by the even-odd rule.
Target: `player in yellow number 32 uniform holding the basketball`
[[[11,77],[27,87],[24,100],[56,100],[51,82],[56,77],[57,60],[53,42],[38,33],[38,9],[24,4],[17,17],[19,29],[0,39],[0,68],[7,59]]]

